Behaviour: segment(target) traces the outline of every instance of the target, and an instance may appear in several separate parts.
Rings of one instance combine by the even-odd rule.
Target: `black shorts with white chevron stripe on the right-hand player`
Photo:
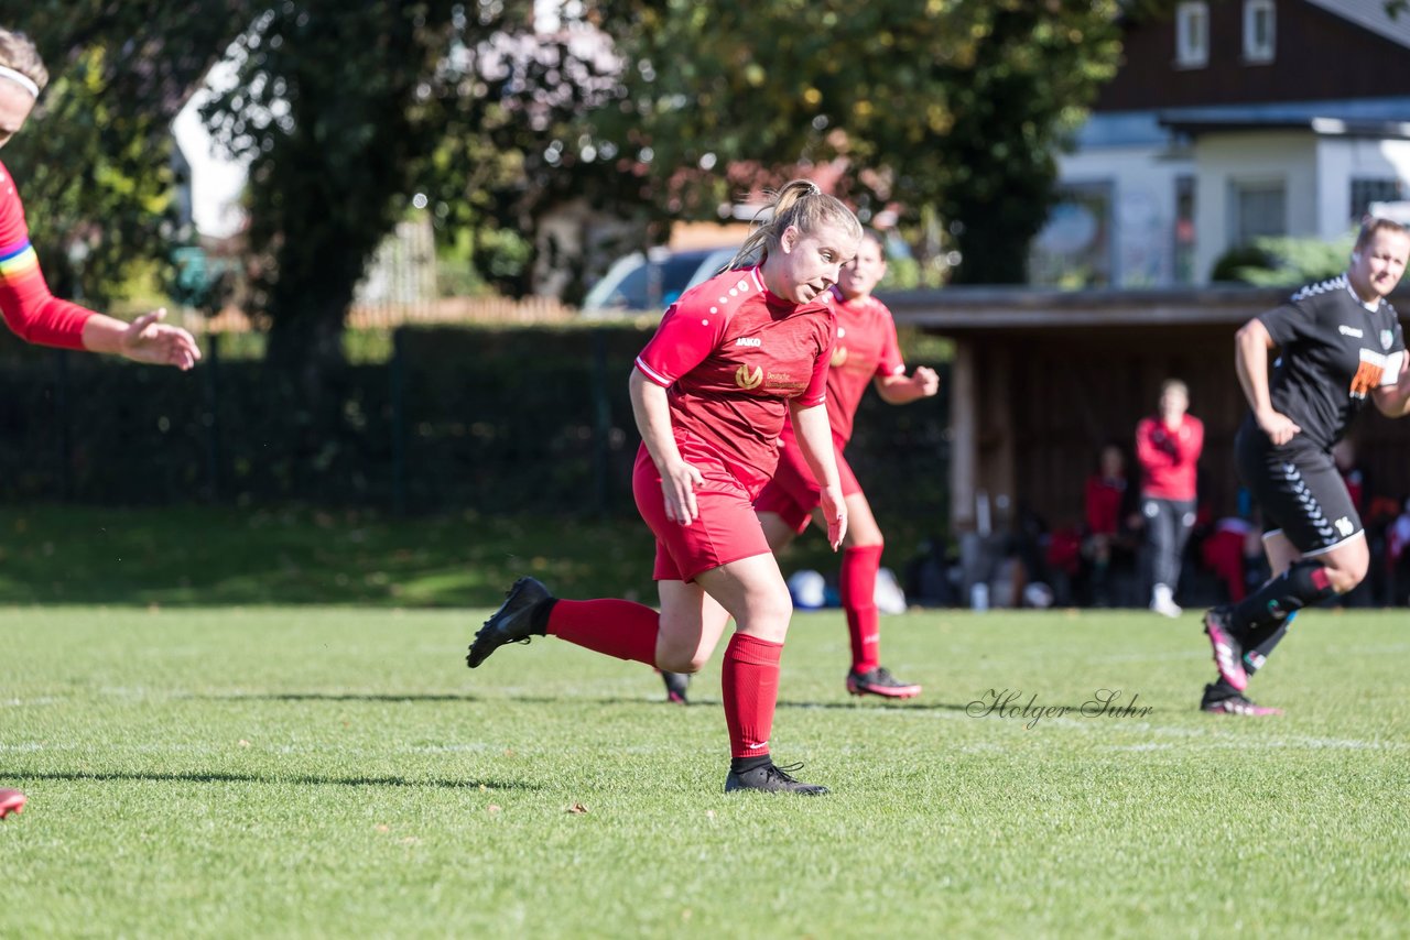
[[[1277,533],[1303,555],[1320,555],[1355,538],[1361,516],[1331,454],[1301,434],[1273,447],[1245,421],[1234,437],[1239,479],[1263,510],[1263,534]]]

